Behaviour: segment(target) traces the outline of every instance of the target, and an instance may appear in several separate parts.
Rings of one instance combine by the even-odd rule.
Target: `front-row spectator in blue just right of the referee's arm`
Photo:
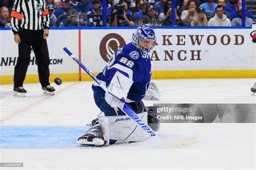
[[[77,26],[77,15],[76,9],[69,9],[66,14],[60,15],[57,19],[57,27],[70,27]]]

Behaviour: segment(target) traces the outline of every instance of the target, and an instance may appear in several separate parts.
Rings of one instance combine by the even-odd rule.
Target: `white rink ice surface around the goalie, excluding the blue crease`
[[[161,100],[145,101],[147,106],[153,103],[256,103],[256,96],[251,96],[250,91],[255,79],[154,82],[161,91]],[[63,82],[60,86],[52,83],[55,96],[43,95],[40,84],[24,84],[28,91],[24,98],[12,96],[12,85],[1,85],[1,126],[84,126],[99,113],[91,83]],[[256,167],[255,123],[165,123],[157,133],[164,140],[197,136],[199,143],[176,149],[159,149],[150,140],[107,147],[0,148],[0,162],[23,162],[24,167],[17,169]]]

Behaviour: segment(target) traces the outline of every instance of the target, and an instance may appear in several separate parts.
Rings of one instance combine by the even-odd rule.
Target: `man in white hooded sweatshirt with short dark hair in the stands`
[[[223,14],[223,6],[218,5],[215,12],[215,16],[209,20],[208,26],[231,26],[230,20]]]

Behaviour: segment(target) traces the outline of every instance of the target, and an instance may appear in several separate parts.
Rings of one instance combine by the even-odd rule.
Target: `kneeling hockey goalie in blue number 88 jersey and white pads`
[[[148,122],[148,112],[142,100],[160,99],[160,91],[151,82],[149,53],[155,45],[153,29],[139,26],[132,34],[132,42],[113,53],[103,72],[96,76],[107,87],[107,92],[97,83],[92,85],[95,103],[104,116],[93,120],[91,128],[77,143],[104,146],[148,138],[118,107],[125,101],[143,122]]]

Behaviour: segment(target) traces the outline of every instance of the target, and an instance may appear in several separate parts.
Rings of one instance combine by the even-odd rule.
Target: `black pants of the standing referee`
[[[43,39],[43,32],[44,30],[19,30],[21,42],[18,45],[19,56],[14,69],[14,87],[23,85],[30,62],[31,46],[36,56],[39,81],[42,87],[50,85],[50,58],[46,39]]]

